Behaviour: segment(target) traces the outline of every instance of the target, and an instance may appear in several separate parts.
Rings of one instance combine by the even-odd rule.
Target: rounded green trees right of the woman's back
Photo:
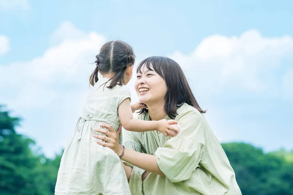
[[[293,195],[293,163],[251,144],[222,146],[243,195]]]

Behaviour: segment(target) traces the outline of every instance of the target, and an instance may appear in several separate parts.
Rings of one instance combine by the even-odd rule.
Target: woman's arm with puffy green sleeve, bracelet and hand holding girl
[[[159,147],[155,156],[142,154],[125,149],[122,158],[136,167],[146,171],[166,176],[171,182],[180,182],[190,178],[199,166],[205,148],[205,120],[195,109],[187,108],[177,117],[181,131],[177,137],[169,139],[163,147]],[[105,126],[108,127],[108,126]],[[110,130],[110,129],[109,129]],[[112,132],[114,130],[111,130]],[[97,130],[111,137],[111,132]],[[115,132],[116,133],[116,132]],[[108,137],[98,138],[107,140]],[[114,143],[110,138],[108,143],[100,145],[111,148],[116,154],[123,154],[123,147],[119,142]]]

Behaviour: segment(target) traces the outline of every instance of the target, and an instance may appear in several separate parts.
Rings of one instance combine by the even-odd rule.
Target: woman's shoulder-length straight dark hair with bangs
[[[167,84],[164,109],[170,118],[174,119],[176,117],[177,109],[183,103],[193,106],[200,113],[206,113],[198,105],[183,71],[176,61],[161,56],[149,57],[138,65],[136,73],[141,73],[141,69],[144,66],[164,78]],[[147,113],[147,109],[141,109],[139,113]]]

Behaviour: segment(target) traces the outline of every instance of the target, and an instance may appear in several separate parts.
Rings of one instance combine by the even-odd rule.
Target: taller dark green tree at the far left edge
[[[19,135],[20,118],[10,117],[0,106],[0,194],[35,195],[34,168],[38,160],[31,152],[32,139]]]

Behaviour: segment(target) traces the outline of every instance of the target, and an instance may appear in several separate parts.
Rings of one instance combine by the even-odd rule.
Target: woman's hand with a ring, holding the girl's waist
[[[97,141],[97,143],[100,144],[101,146],[111,148],[118,156],[122,155],[123,147],[119,144],[119,134],[122,130],[122,125],[119,126],[117,132],[109,124],[102,124],[101,127],[105,127],[109,131],[107,131],[106,129],[95,129],[95,132],[99,132],[106,135],[106,136],[93,135],[93,137],[97,139],[102,139],[105,141],[105,142]]]

